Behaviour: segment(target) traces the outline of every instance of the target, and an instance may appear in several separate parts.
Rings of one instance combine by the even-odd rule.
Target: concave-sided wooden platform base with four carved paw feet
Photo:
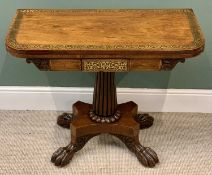
[[[66,127],[71,123],[71,142],[66,147],[61,147],[52,155],[51,161],[56,166],[65,166],[73,158],[74,154],[94,136],[109,133],[118,137],[127,148],[135,153],[138,160],[146,167],[154,167],[158,162],[157,154],[149,147],[144,147],[139,142],[139,129],[149,127],[153,118],[147,114],[137,115],[137,104],[127,102],[117,106],[121,118],[114,123],[96,123],[89,117],[91,104],[76,102],[73,105],[73,114],[67,114],[58,118],[58,124]],[[140,117],[139,117],[140,116]],[[64,120],[65,117],[65,120]],[[138,122],[143,122],[144,126]]]

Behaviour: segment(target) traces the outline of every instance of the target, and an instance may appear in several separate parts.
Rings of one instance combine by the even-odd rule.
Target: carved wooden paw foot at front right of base
[[[134,152],[138,160],[146,167],[154,167],[159,162],[157,154],[149,147],[138,144],[135,145]]]

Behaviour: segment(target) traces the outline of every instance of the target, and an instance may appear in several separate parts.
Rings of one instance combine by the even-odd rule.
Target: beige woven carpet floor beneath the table
[[[212,114],[153,113],[154,125],[140,132],[160,159],[152,169],[107,134],[90,140],[68,166],[55,167],[52,153],[70,141],[70,130],[56,125],[58,114],[0,111],[1,175],[212,175]]]

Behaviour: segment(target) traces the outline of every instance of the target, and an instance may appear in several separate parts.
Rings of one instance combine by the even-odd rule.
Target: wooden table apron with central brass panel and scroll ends
[[[171,70],[185,59],[27,59],[40,70],[128,72]]]

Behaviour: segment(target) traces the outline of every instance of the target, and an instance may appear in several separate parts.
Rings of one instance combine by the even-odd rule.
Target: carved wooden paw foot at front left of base
[[[67,147],[61,147],[53,153],[51,162],[54,163],[56,166],[63,167],[71,161],[74,153],[75,150],[72,144],[69,144]]]

